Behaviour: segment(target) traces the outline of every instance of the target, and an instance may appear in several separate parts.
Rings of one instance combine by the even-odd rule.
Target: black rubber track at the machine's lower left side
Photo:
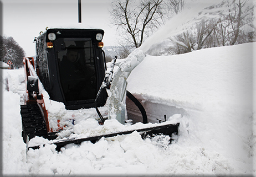
[[[21,105],[21,116],[22,137],[25,143],[27,135],[29,140],[35,136],[48,138],[44,117],[37,104]]]

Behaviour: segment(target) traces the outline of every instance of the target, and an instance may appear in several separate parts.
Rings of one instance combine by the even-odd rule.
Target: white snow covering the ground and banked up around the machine
[[[95,144],[69,144],[60,152],[55,145],[29,149],[26,155],[19,113],[24,71],[3,70],[3,174],[255,174],[253,45],[146,56],[132,71],[127,89],[142,103],[151,101],[186,111],[170,117],[180,121],[177,140],[170,145],[167,137],[142,140],[134,132]],[[83,110],[66,111],[66,115],[79,117],[77,134],[99,126]],[[120,127],[115,120],[105,126]]]

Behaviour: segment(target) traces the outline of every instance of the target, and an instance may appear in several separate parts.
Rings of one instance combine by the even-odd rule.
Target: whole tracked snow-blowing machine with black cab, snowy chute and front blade
[[[29,147],[29,141],[38,136],[44,137],[57,145],[57,149],[69,143],[83,141],[96,142],[101,137],[126,135],[134,131],[140,132],[142,138],[156,135],[177,135],[179,123],[149,124],[146,111],[140,101],[126,90],[127,77],[145,54],[139,49],[132,52],[127,58],[116,62],[115,56],[111,65],[107,67],[105,52],[103,51],[103,35],[101,29],[47,29],[38,37],[36,42],[36,58],[24,57],[26,91],[24,105],[21,105],[22,137]],[[36,60],[35,60],[36,59]],[[114,69],[116,66],[117,69]],[[114,72],[115,71],[115,72]],[[44,94],[44,95],[43,95]],[[125,124],[126,96],[136,104],[141,111],[142,122],[148,125],[144,128],[122,130],[105,133],[104,135],[58,138],[66,125],[60,125],[58,119],[51,127],[49,110],[46,98],[63,103],[66,110],[96,109],[99,125],[103,126],[106,120],[115,119]],[[108,104],[106,105],[106,102]],[[107,115],[101,115],[99,108],[108,106]],[[75,120],[72,124],[75,125]],[[170,139],[170,141],[172,138]]]

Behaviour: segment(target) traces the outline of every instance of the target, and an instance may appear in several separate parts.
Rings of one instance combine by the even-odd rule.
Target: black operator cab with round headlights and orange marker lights
[[[37,37],[37,74],[50,99],[66,109],[93,108],[105,76],[104,31],[48,29]],[[97,106],[106,102],[101,93]]]

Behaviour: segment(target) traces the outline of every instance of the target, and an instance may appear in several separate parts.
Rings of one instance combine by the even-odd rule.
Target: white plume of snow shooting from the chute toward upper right
[[[157,44],[169,37],[182,34],[194,23],[199,22],[205,18],[217,18],[219,13],[223,11],[223,8],[206,9],[218,3],[222,0],[216,1],[188,1],[185,3],[185,8],[182,12],[172,17],[168,22],[159,28],[156,33],[150,36],[141,46],[140,49],[144,52],[150,49],[153,44]]]

